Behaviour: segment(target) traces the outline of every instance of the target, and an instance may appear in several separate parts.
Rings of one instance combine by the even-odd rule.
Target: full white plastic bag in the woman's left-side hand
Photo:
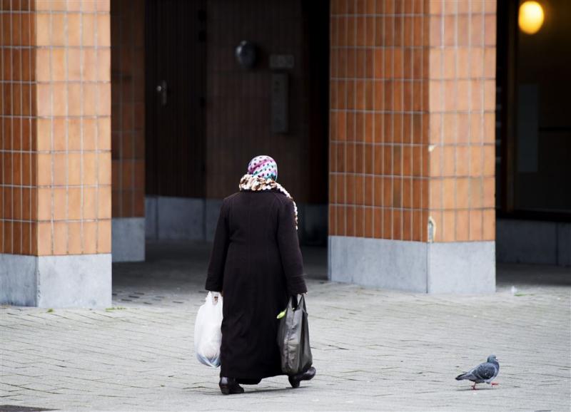
[[[222,297],[218,292],[208,292],[206,302],[198,309],[194,324],[196,359],[213,368],[220,366],[222,304]]]

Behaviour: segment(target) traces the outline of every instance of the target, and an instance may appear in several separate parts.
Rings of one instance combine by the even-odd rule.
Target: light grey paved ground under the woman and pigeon
[[[188,250],[154,245],[146,264],[116,265],[113,309],[1,307],[0,411],[570,411],[570,269],[502,266],[496,294],[465,297],[310,279],[318,376],[221,396],[192,349],[208,248]],[[305,255],[323,277],[323,254]],[[492,353],[499,386],[454,380]]]

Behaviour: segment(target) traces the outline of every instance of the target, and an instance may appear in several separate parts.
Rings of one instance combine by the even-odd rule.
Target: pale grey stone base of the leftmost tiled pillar
[[[0,254],[0,304],[110,307],[111,254]]]

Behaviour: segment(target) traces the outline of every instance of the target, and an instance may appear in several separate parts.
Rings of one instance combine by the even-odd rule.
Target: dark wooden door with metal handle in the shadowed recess
[[[204,197],[206,0],[146,1],[146,193]]]

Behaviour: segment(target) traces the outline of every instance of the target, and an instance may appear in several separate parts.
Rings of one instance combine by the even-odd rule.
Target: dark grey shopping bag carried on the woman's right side
[[[280,319],[278,328],[281,370],[287,375],[300,374],[313,364],[305,297],[301,295],[295,309],[293,309],[293,299],[295,297],[290,298],[288,307],[285,309],[285,316]]]

